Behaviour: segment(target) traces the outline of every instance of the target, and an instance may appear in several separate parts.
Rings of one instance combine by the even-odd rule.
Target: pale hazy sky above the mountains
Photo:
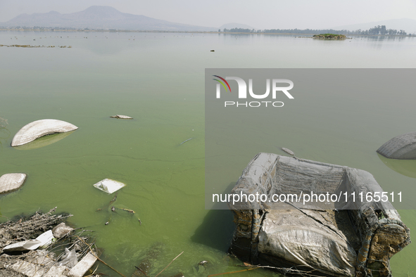
[[[0,22],[20,13],[74,13],[94,5],[207,27],[237,22],[256,29],[316,29],[393,18],[416,20],[416,0],[0,0]]]

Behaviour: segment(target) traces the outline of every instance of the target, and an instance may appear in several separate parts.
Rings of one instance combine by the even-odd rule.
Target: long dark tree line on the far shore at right
[[[221,30],[218,30],[221,32]],[[254,30],[254,29],[243,29],[243,28],[232,28],[224,29],[222,32],[244,32],[244,33],[289,33],[289,34],[384,34],[384,35],[401,35],[401,36],[416,36],[416,34],[407,34],[405,30],[387,29],[386,25],[378,25],[370,28],[369,30],[313,30],[313,29],[265,29],[265,30]]]

